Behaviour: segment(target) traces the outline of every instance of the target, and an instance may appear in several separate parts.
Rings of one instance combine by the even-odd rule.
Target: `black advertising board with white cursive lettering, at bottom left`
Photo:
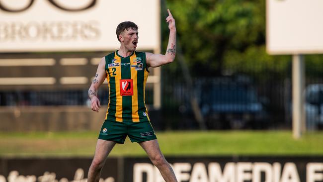
[[[86,182],[89,158],[0,159],[0,182]],[[118,182],[116,158],[106,160],[101,180]]]

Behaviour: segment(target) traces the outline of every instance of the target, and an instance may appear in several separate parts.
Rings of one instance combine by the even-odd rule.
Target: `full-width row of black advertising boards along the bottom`
[[[323,182],[323,156],[166,157],[178,182]],[[86,182],[89,158],[0,159],[0,182]],[[147,158],[108,158],[100,182],[164,182]]]

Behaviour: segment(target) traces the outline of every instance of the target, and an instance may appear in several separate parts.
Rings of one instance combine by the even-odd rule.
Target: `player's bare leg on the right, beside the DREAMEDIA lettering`
[[[177,182],[173,169],[161,154],[158,141],[150,140],[139,144],[144,148],[152,163],[159,169],[165,182]]]

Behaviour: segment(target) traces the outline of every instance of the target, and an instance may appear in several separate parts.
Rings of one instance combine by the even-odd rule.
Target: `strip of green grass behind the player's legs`
[[[166,156],[323,155],[323,132],[294,140],[290,131],[157,132]],[[0,133],[0,156],[85,156],[94,154],[96,132]],[[126,139],[110,156],[146,155]]]

